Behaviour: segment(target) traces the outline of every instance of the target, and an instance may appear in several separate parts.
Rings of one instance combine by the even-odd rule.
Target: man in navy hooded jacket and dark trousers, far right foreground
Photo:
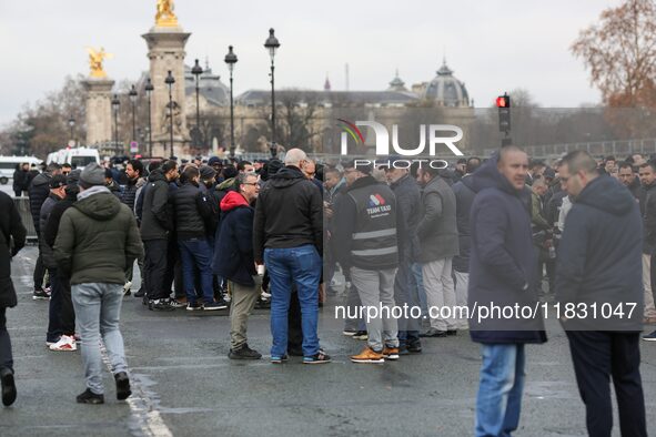
[[[561,179],[574,205],[558,248],[556,296],[586,407],[587,431],[612,434],[612,377],[620,434],[646,436],[638,347],[642,242],[639,232],[626,232],[639,228],[638,207],[614,177],[599,177],[586,152],[572,152],[563,162]]]

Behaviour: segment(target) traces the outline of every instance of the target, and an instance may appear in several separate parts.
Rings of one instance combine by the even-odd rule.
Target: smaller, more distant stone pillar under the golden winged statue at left
[[[82,81],[87,91],[87,144],[112,141],[113,80],[88,78]]]

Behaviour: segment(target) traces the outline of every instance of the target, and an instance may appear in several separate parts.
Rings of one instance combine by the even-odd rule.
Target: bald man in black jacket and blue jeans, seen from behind
[[[258,197],[253,225],[255,263],[266,265],[271,277],[271,362],[287,358],[287,311],[292,284],[296,285],[303,327],[303,363],[331,360],[319,347],[319,281],[323,244],[323,201],[319,187],[301,167],[305,152],[291,149],[285,167],[271,176]]]

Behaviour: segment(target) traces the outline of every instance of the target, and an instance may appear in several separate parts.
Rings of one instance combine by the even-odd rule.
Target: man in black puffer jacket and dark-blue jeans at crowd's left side
[[[184,184],[175,190],[171,203],[175,213],[175,231],[182,258],[182,278],[186,293],[186,309],[224,309],[223,302],[214,302],[212,286],[212,247],[208,241],[208,231],[203,209],[199,207],[200,172],[195,166],[186,166],[183,172]],[[204,194],[203,196],[206,196]],[[198,302],[194,270],[200,273],[199,292],[202,293],[203,305]]]

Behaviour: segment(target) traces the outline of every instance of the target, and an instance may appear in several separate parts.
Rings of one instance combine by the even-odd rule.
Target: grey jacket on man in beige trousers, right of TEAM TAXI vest
[[[420,263],[458,254],[455,194],[441,176],[428,182],[422,193],[422,220],[417,225],[417,237]]]

